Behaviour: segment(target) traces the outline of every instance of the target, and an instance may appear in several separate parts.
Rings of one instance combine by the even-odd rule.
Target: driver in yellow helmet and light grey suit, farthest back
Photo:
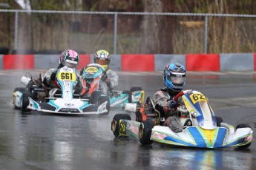
[[[108,66],[110,61],[111,55],[109,55],[109,52],[106,50],[98,50],[94,54],[94,63],[100,64],[105,68],[105,72],[103,72],[99,86],[103,94],[107,96],[111,95],[111,90],[118,85],[118,75]],[[82,75],[82,70],[80,75]]]

